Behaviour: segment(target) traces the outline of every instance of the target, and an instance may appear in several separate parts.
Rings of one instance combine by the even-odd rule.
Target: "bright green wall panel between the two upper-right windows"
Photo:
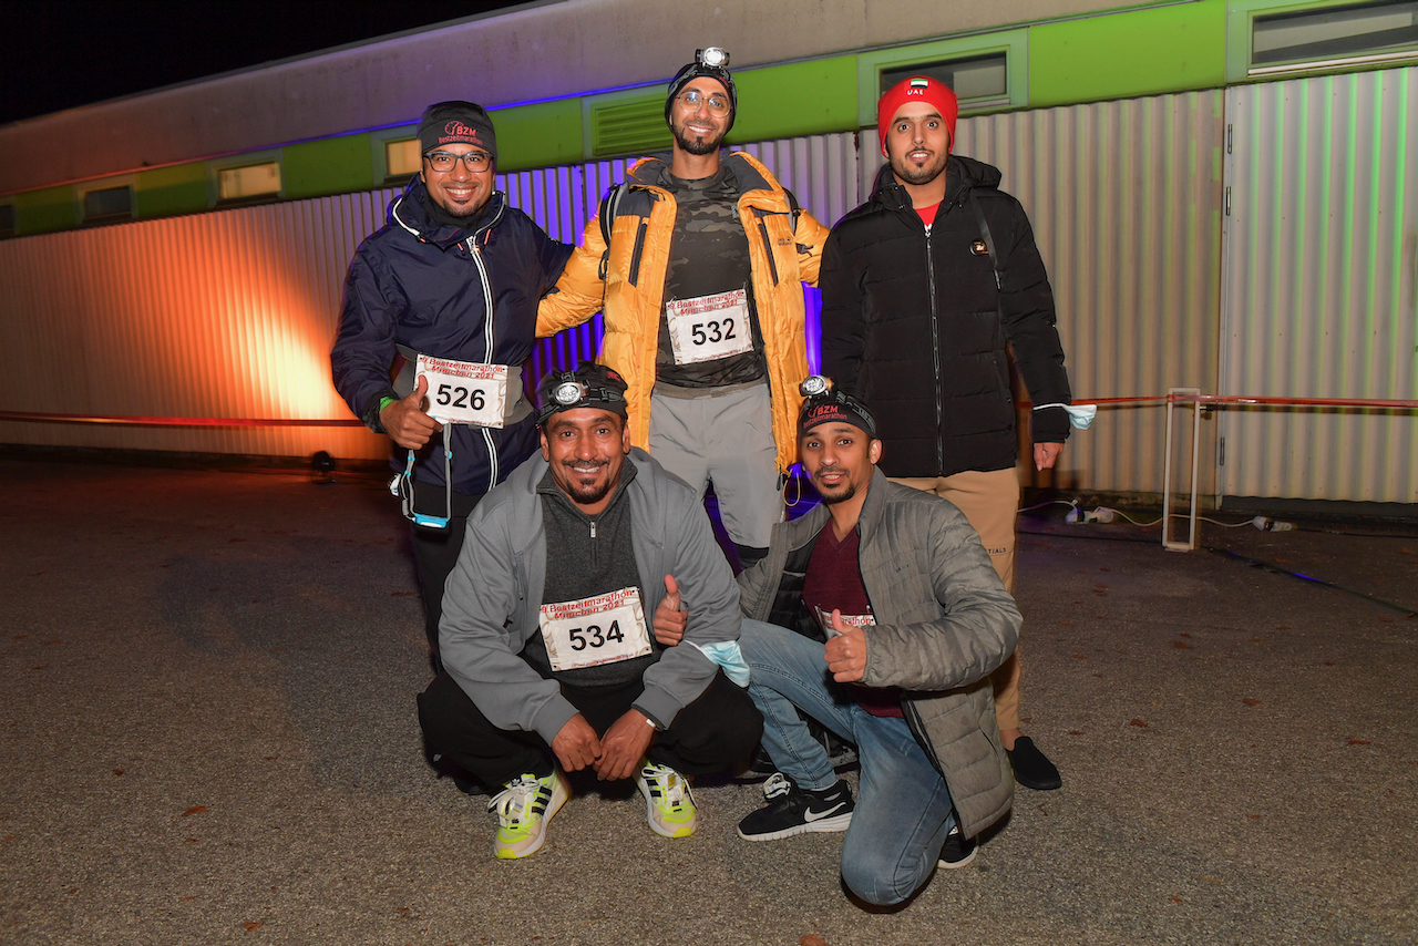
[[[1029,27],[1029,108],[1225,85],[1225,0]]]

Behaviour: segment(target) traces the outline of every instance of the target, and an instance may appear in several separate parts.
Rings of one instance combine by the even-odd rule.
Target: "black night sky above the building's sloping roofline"
[[[0,125],[520,0],[0,0]]]

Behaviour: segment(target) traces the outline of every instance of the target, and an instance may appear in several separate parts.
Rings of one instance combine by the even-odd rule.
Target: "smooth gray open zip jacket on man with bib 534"
[[[635,477],[624,489],[645,625],[665,597],[665,576],[674,574],[693,616],[683,642],[739,640],[739,587],[699,495],[638,447],[631,448],[625,462],[635,464]],[[576,706],[556,681],[543,679],[518,657],[540,633],[546,530],[536,488],[546,471],[546,461],[533,455],[468,516],[462,553],[444,591],[438,652],[444,669],[488,722],[499,729],[536,732],[550,743],[576,715]],[[665,648],[645,669],[645,691],[634,706],[669,726],[718,669],[698,647]]]

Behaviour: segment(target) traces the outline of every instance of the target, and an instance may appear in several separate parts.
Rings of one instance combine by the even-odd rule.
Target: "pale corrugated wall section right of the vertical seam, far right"
[[[1418,69],[1227,92],[1222,394],[1418,397]],[[1227,410],[1221,492],[1418,502],[1418,416]]]

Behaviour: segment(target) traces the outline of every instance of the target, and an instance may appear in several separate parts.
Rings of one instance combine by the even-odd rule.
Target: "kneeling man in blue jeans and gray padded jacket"
[[[866,407],[825,379],[804,394],[800,457],[822,505],[774,526],[767,557],[739,577],[749,695],[780,769],[739,835],[845,830],[847,886],[899,903],[937,859],[968,862],[1014,801],[990,672],[1022,618],[964,515],[876,469]],[[856,743],[855,811],[798,709]]]

